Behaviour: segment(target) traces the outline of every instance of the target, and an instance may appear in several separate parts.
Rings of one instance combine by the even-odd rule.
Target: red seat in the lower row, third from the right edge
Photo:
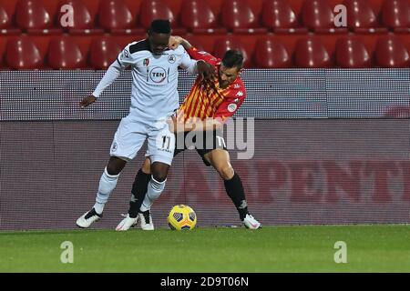
[[[322,41],[318,38],[298,39],[295,48],[295,65],[300,67],[328,67],[331,58]]]

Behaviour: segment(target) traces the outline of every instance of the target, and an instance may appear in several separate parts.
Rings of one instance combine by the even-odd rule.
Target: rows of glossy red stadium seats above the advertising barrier
[[[333,24],[341,3],[347,27]],[[60,21],[67,4],[76,11],[69,28]],[[200,49],[220,56],[240,48],[246,67],[409,65],[410,0],[0,0],[1,68],[104,69],[118,45],[144,38],[152,19],[163,17]],[[73,46],[66,65],[57,65],[64,54],[51,43]],[[17,47],[30,51],[18,55]]]

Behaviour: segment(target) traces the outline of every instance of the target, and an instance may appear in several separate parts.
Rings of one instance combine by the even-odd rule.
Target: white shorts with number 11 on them
[[[146,156],[151,163],[161,162],[171,165],[175,149],[175,135],[169,131],[166,119],[148,122],[136,119],[132,115],[122,118],[118,125],[109,152],[110,156],[118,156],[126,161],[137,156],[139,149],[148,138]]]

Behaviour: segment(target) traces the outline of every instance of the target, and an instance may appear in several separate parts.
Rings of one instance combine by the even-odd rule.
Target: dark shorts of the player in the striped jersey
[[[225,139],[221,130],[209,132],[185,132],[176,135],[174,157],[186,149],[195,149],[206,166],[210,166],[205,160],[205,155],[214,149],[226,149]]]

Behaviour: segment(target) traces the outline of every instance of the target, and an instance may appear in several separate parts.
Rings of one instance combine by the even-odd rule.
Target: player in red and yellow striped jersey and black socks
[[[170,131],[177,135],[176,143],[178,143],[178,135],[181,135],[181,132],[185,132],[182,135],[186,136],[192,130],[205,131],[210,128],[220,128],[223,121],[238,110],[246,96],[245,87],[239,76],[243,66],[243,56],[240,51],[229,50],[222,59],[219,59],[198,51],[187,40],[179,36],[171,36],[169,46],[176,48],[178,45],[182,45],[191,58],[204,60],[213,65],[218,74],[213,82],[208,84],[204,83],[200,77],[197,78],[190,94],[179,106],[177,117],[173,118],[169,124]],[[241,177],[231,166],[230,155],[218,129],[213,132],[212,138],[212,148],[203,145],[207,145],[206,141],[201,146],[196,146],[198,154],[202,157],[205,165],[213,166],[223,179],[226,192],[236,206],[243,225],[250,229],[261,228],[261,223],[248,212]],[[197,141],[193,140],[193,142],[195,145]],[[176,145],[174,156],[187,149],[187,146],[190,145],[186,145],[185,142],[182,148]],[[128,216],[118,224],[118,231],[128,230],[129,227],[137,224],[138,219],[142,229],[154,229],[149,210],[159,196],[150,196],[147,192],[150,176],[150,153],[148,152],[146,156],[148,158],[139,169],[132,187]]]

